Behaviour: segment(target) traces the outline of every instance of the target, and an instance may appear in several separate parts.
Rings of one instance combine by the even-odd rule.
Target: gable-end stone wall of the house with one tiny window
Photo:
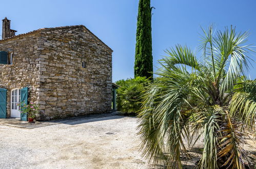
[[[111,49],[84,26],[42,30],[40,44],[40,119],[111,111]]]

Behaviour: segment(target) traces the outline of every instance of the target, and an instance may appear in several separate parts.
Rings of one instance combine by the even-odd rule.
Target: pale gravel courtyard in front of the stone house
[[[0,125],[0,168],[152,168],[139,152],[136,118],[95,117],[33,129]],[[248,141],[255,155],[255,142]],[[194,167],[202,146],[198,141],[189,157],[181,157],[184,168]]]

